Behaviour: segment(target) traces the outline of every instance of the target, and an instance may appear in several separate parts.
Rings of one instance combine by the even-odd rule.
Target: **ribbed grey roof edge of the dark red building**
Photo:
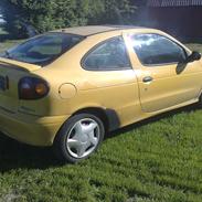
[[[148,7],[199,7],[202,0],[148,0]]]

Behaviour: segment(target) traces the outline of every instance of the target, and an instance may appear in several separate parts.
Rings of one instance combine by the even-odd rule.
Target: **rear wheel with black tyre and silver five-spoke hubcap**
[[[64,123],[57,132],[53,149],[62,162],[76,163],[94,153],[105,136],[100,118],[92,114],[78,114]]]

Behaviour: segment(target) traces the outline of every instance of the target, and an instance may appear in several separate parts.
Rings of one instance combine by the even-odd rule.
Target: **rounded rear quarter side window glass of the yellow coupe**
[[[123,38],[110,39],[94,47],[83,61],[89,71],[121,71],[131,68]]]

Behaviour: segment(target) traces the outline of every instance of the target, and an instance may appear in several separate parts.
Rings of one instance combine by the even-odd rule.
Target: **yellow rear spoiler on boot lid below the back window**
[[[29,64],[29,63],[19,62],[11,59],[4,59],[4,57],[0,57],[0,66],[1,65],[3,65],[3,67],[17,68],[25,72],[34,72],[42,67],[40,65]]]

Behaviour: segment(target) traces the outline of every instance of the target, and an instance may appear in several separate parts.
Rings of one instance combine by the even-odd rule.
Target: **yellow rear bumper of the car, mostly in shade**
[[[52,146],[56,132],[68,117],[36,117],[12,114],[0,108],[0,130],[10,138],[28,145]]]

